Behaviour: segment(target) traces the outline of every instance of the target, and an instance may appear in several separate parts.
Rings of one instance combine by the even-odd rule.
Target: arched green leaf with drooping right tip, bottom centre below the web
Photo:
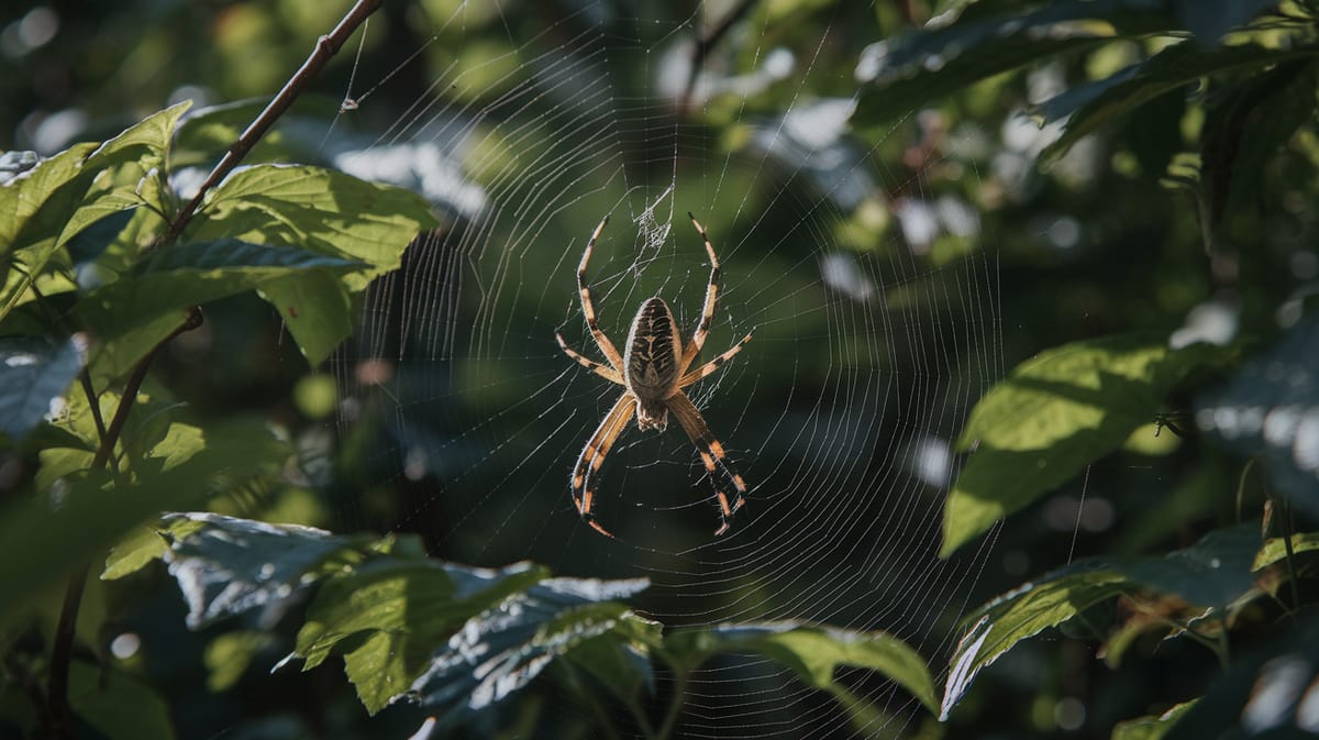
[[[683,631],[665,640],[665,649],[689,669],[716,653],[760,653],[790,667],[814,689],[835,687],[839,666],[877,671],[909,691],[930,711],[936,707],[926,661],[886,632],[855,632],[797,621],[718,625]]]

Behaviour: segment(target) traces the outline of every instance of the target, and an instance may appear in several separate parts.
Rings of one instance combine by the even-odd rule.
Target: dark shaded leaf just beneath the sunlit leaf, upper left
[[[156,327],[161,317],[182,318],[190,306],[255,290],[272,280],[303,273],[342,276],[361,266],[309,249],[237,239],[179,244],[154,252],[133,274],[92,290],[75,310],[99,339],[115,343],[133,330]]]

